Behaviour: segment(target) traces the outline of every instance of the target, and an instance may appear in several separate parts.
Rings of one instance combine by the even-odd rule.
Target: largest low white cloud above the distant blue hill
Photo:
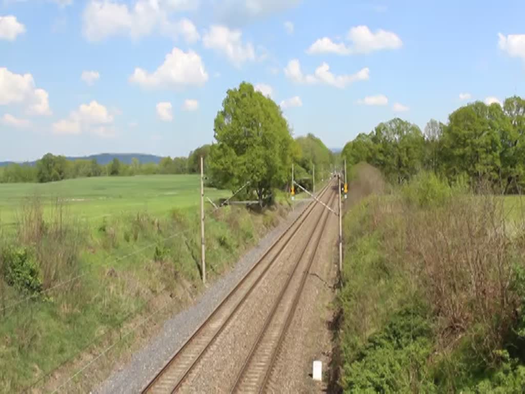
[[[71,111],[66,119],[53,123],[54,134],[81,134],[91,132],[100,137],[114,136],[112,127],[113,116],[108,109],[96,100],[89,104],[81,104],[77,110]]]

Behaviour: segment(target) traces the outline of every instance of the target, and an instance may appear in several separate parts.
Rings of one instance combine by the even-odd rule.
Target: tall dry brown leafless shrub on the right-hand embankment
[[[501,204],[491,195],[457,195],[441,208],[405,210],[405,256],[438,316],[443,343],[479,324],[485,354],[501,344],[515,301]]]

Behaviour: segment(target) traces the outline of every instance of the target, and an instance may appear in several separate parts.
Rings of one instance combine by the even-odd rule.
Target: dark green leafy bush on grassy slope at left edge
[[[26,247],[10,247],[2,252],[4,278],[19,291],[38,293],[42,289],[40,271],[35,256]]]

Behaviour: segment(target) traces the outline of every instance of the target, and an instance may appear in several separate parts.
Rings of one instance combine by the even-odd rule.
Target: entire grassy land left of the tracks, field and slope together
[[[166,317],[203,290],[195,175],[7,184],[0,195],[9,224],[0,227],[1,392],[36,381],[36,387],[57,387],[122,338],[74,385],[80,387],[84,376],[100,381],[144,334],[141,327],[125,335],[135,323],[162,308]],[[228,192],[209,189],[206,195]],[[210,282],[287,210],[211,208]]]

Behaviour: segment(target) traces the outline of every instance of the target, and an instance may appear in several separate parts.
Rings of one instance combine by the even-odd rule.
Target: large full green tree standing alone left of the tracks
[[[229,89],[214,123],[208,167],[214,184],[235,190],[250,181],[247,194],[259,204],[283,186],[291,167],[293,139],[279,106],[246,82]]]

